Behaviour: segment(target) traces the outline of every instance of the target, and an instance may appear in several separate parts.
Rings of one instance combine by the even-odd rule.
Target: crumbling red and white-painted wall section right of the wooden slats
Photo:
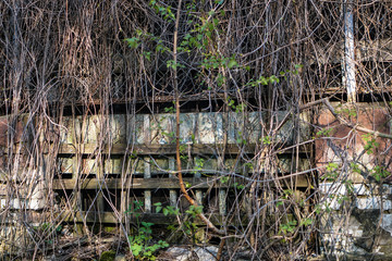
[[[318,113],[316,163],[320,169],[321,248],[329,257],[392,257],[391,139],[355,126],[391,133],[388,107],[333,104]]]

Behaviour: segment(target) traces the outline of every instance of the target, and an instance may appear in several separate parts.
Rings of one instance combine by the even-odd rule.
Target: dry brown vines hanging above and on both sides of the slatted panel
[[[157,11],[155,7],[167,11]],[[166,16],[169,7],[173,17]],[[101,128],[107,130],[98,135],[99,151],[103,145],[111,144],[109,115],[123,113],[131,119],[137,113],[164,112],[175,100],[175,90],[177,112],[225,113],[244,105],[240,112],[260,114],[264,134],[255,150],[247,153],[246,146],[240,146],[235,156],[238,162],[252,165],[246,170],[245,189],[236,190],[231,198],[233,202],[219,227],[223,235],[211,233],[226,239],[222,244],[226,254],[234,258],[236,252],[250,249],[253,259],[286,260],[287,254],[299,259],[318,253],[318,173],[311,150],[315,137],[301,138],[304,124],[301,113],[306,111],[308,119],[313,119],[319,113],[318,100],[345,99],[341,70],[342,3],[184,0],[180,16],[177,10],[179,2],[171,0],[157,1],[156,5],[139,0],[0,2],[0,112],[1,129],[7,130],[0,134],[5,200],[4,206],[1,203],[2,228],[12,223],[26,232],[2,232],[1,240],[5,237],[10,240],[3,245],[12,249],[12,254],[20,258],[57,254],[59,260],[66,260],[73,256],[97,257],[102,246],[128,251],[126,235],[133,233],[128,224],[119,227],[111,245],[101,244],[105,233],[97,233],[86,221],[82,239],[71,235],[69,238],[41,225],[62,224],[74,229],[76,225],[63,223],[59,214],[71,211],[69,216],[73,216],[82,210],[81,187],[76,184],[61,199],[63,204],[58,203],[61,191],[51,189],[59,172],[57,158],[63,119],[64,115],[100,115]],[[358,100],[388,104],[391,4],[354,1],[354,14]],[[207,28],[201,28],[204,25]],[[175,32],[177,45],[173,42]],[[201,46],[184,44],[187,34]],[[197,35],[201,35],[199,39]],[[134,48],[125,41],[132,37]],[[175,58],[183,66],[175,69],[168,66],[173,61],[174,46],[183,47]],[[235,63],[230,64],[231,61]],[[257,82],[261,76],[267,80],[277,76],[279,80]],[[278,115],[279,111],[284,111],[286,119]],[[281,123],[289,119],[293,144],[273,142]],[[315,128],[315,133],[319,130],[311,122],[305,125]],[[132,154],[133,145],[128,146],[124,157]],[[282,183],[278,158],[287,146],[291,178]],[[98,159],[101,154],[91,157]],[[221,159],[220,172],[230,176],[231,171],[223,165],[228,157],[224,146],[217,157]],[[102,162],[97,160],[98,166]],[[310,163],[304,166],[301,162]],[[81,165],[76,169],[82,169]],[[124,173],[126,170],[130,166],[124,166]],[[299,174],[305,174],[302,176],[308,186],[295,187]],[[21,202],[33,199],[37,186],[45,187],[42,208],[29,211],[27,207],[13,206],[14,199]],[[110,201],[105,197],[103,200]],[[121,219],[123,209],[119,212],[114,204],[109,203]],[[247,224],[240,222],[243,216]],[[311,222],[291,225],[292,216]],[[30,219],[40,224],[30,223]]]

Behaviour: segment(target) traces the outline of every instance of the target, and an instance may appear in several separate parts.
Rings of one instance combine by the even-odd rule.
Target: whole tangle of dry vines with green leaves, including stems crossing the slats
[[[220,243],[219,257],[225,251],[235,259],[245,250],[252,259],[318,254],[323,247],[318,222],[329,214],[319,178],[342,182],[356,162],[314,121],[322,105],[353,133],[376,136],[368,138],[360,157],[377,147],[377,138],[391,138],[356,125],[355,107],[339,112],[330,103],[347,100],[342,80],[343,5],[313,0],[2,0],[2,247],[20,258],[58,254],[59,260],[98,257],[113,246],[128,250],[128,236],[137,226],[126,212],[128,206],[159,188],[131,188],[145,164],[162,176],[177,174],[182,194],[176,207],[186,213],[188,204],[194,206],[188,216],[196,213],[203,221],[198,227],[207,226],[205,238]],[[356,99],[383,105],[390,116],[390,3],[354,1],[352,7],[358,50]],[[219,115],[210,128],[219,126],[220,133],[205,150],[196,151],[203,137],[183,138],[180,128],[186,113],[189,119],[192,113]],[[126,126],[115,127],[115,115],[122,115]],[[148,115],[151,124],[142,132],[139,115]],[[164,125],[168,119],[175,123]],[[98,129],[94,138],[86,124]],[[139,152],[140,133],[150,135],[149,153]],[[125,142],[117,140],[121,135]],[[68,139],[72,141],[64,149]],[[327,139],[342,164],[316,165],[314,144]],[[151,152],[154,146],[169,148],[173,140],[175,150]],[[375,163],[383,169],[366,175],[377,182],[387,178],[388,154],[387,146]],[[71,158],[72,166],[64,170]],[[111,159],[121,160],[118,176],[107,173]],[[169,163],[162,166],[160,160]],[[216,165],[209,169],[210,162]],[[188,186],[183,175],[196,173],[210,178],[211,186]],[[72,187],[58,185],[71,174],[66,184]],[[95,189],[86,189],[89,175],[97,179]],[[110,178],[119,181],[117,187]],[[176,192],[170,186],[160,196],[167,204]],[[224,207],[219,197],[225,198]],[[147,203],[139,209],[154,212],[157,207]],[[109,223],[106,215],[88,217],[99,211],[114,216],[115,236],[102,228]],[[181,211],[166,211],[176,216],[177,231],[186,231]],[[219,211],[224,214],[217,222],[213,213]],[[5,233],[10,225],[17,229]],[[192,233],[179,240],[192,243],[196,232]],[[20,244],[12,243],[16,239]]]

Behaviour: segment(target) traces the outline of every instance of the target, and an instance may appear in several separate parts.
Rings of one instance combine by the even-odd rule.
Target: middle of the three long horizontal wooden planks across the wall
[[[236,177],[236,183],[245,184],[248,183],[247,181],[242,181],[241,177]],[[284,179],[280,179],[282,184],[284,182],[290,182],[290,176]],[[209,188],[211,186],[217,186],[221,188],[228,188],[228,184],[232,184],[232,182],[228,182],[225,184],[221,184],[219,181],[217,181],[217,177],[185,177],[184,182],[186,184],[191,185],[191,188],[196,189],[203,189],[203,188]],[[121,178],[108,178],[105,181],[99,181],[96,178],[91,179],[85,179],[83,183],[81,183],[82,189],[97,189],[99,186],[107,187],[108,189],[125,189],[125,188],[132,188],[132,189],[159,189],[159,188],[167,188],[167,189],[180,189],[179,181],[176,178],[133,178],[131,186],[127,187],[126,185],[122,186]],[[297,181],[294,184],[296,187],[308,187],[308,182],[306,179],[306,176],[301,175],[297,176]],[[54,179],[53,181],[53,189],[74,189],[75,182],[73,179]]]

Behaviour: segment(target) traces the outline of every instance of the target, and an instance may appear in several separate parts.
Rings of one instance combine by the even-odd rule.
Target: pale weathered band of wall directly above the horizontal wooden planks
[[[265,129],[266,133],[278,127],[277,133],[270,134],[275,142],[293,144],[309,138],[309,115],[302,113],[294,120],[291,112],[273,112],[273,126]],[[226,135],[228,144],[260,142],[262,137],[262,124],[266,113],[181,113],[180,114],[180,139],[182,144],[222,144]],[[281,122],[284,124],[280,126]],[[297,139],[296,134],[299,135]],[[63,144],[95,144],[103,138],[107,144],[156,144],[167,145],[174,142],[175,115],[163,114],[137,114],[127,116],[117,114],[110,116],[87,115],[64,117],[63,127],[60,128],[60,137]]]

